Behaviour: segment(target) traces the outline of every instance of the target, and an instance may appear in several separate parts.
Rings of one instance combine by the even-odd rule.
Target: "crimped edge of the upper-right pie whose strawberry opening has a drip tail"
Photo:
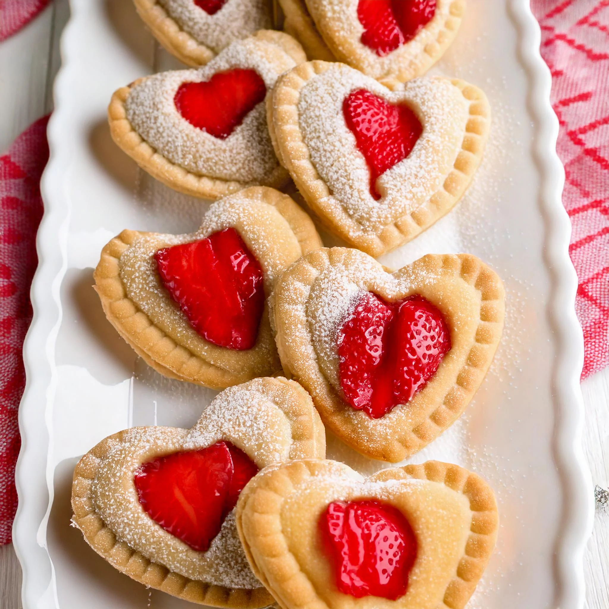
[[[271,141],[280,162],[287,168],[307,205],[320,217],[328,230],[371,256],[384,253],[414,239],[445,216],[461,199],[482,161],[482,154],[490,131],[490,105],[484,91],[459,79],[450,80],[459,88],[470,104],[470,118],[466,124],[461,149],[452,171],[446,175],[441,188],[417,209],[398,217],[376,232],[365,232],[345,211],[333,211],[319,205],[319,200],[330,195],[328,185],[315,169],[309,155],[298,119],[300,92],[306,83],[322,74],[334,64],[313,61],[302,63],[280,76],[273,88],[272,114],[269,121]],[[390,90],[399,90],[402,83],[395,79],[382,84]],[[356,236],[351,236],[356,233]]]

